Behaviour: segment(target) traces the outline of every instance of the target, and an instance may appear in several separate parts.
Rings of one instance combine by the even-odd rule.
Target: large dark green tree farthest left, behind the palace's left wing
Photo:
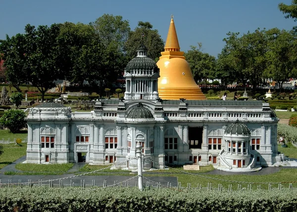
[[[54,80],[64,78],[64,63],[61,60],[57,36],[60,25],[27,25],[25,34],[17,34],[11,39],[6,36],[0,45],[3,52],[6,76],[14,86],[31,82],[42,93],[42,100],[49,88],[55,86]]]

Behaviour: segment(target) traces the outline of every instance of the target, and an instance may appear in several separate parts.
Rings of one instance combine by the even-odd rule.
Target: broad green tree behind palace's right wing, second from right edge
[[[218,55],[218,69],[221,71],[219,75],[222,80],[227,77],[229,82],[241,81],[246,84],[248,80],[255,90],[262,82],[267,68],[266,31],[257,29],[242,37],[238,37],[239,33],[229,32],[227,35],[229,37],[223,39],[226,42],[225,47]]]

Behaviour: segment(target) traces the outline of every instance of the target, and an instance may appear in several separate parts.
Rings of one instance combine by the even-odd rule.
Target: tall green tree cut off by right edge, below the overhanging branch
[[[266,53],[269,78],[280,84],[290,77],[297,77],[297,35],[293,31],[277,28],[267,31],[269,51]]]

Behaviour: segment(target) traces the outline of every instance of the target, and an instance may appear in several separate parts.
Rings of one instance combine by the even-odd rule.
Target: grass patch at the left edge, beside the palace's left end
[[[15,143],[1,145],[3,153],[0,155],[0,169],[26,155],[27,143],[21,143],[21,145]]]

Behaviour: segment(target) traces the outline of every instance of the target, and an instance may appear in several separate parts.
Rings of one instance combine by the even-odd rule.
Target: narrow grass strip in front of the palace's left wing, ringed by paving
[[[66,164],[17,164],[15,168],[25,172],[31,172],[31,175],[62,175],[73,167],[74,163]]]

